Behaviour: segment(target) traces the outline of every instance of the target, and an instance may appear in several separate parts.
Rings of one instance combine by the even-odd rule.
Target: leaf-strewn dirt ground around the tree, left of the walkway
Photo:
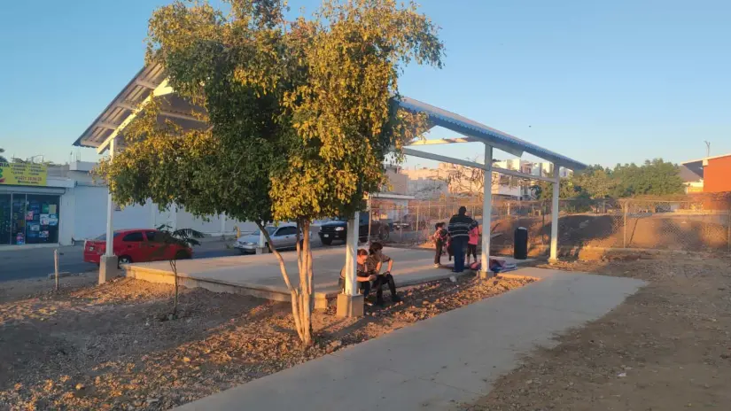
[[[181,289],[170,321],[169,285],[61,280],[58,293],[49,280],[0,283],[0,409],[168,409],[527,283],[428,283],[361,319],[331,306],[304,350],[289,304]]]

